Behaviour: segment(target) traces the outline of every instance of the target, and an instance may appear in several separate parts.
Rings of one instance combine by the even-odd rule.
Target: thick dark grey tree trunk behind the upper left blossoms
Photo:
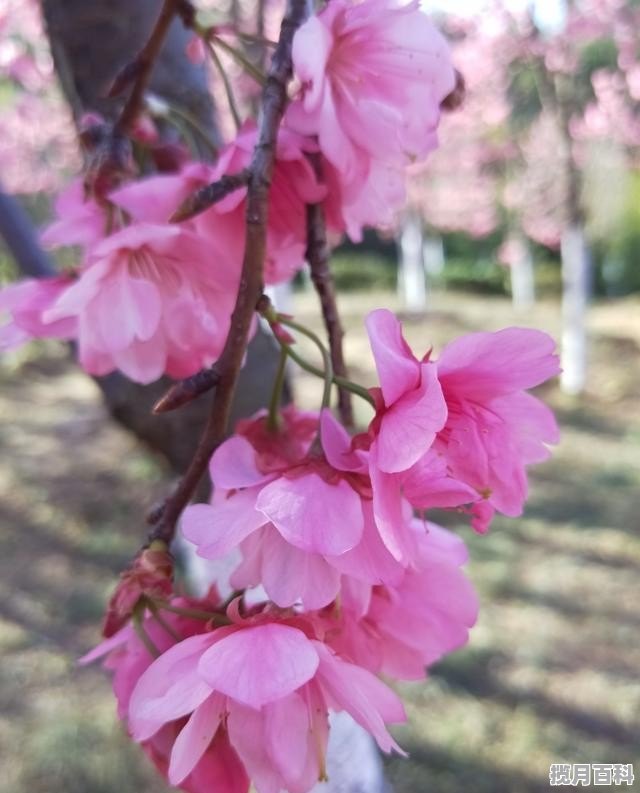
[[[105,89],[144,44],[160,7],[161,0],[42,0],[56,70],[76,121],[90,110],[114,117],[120,102],[106,99]],[[151,89],[188,110],[215,137],[206,72],[186,57],[188,38],[188,31],[175,21],[154,69]],[[277,350],[259,332],[240,375],[232,421],[268,404],[277,363]],[[206,421],[209,398],[201,397],[175,413],[154,416],[151,408],[171,385],[168,378],[140,386],[113,373],[96,381],[111,415],[160,452],[172,468],[183,471]]]

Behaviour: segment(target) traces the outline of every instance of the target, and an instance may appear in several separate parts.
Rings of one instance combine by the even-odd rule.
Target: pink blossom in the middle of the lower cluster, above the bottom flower
[[[397,580],[401,567],[381,541],[366,455],[328,411],[322,447],[308,416],[284,413],[280,431],[264,416],[238,428],[213,455],[211,505],[185,511],[182,530],[198,554],[219,559],[240,546],[236,587],[262,584],[281,607],[301,600],[321,608],[338,594],[341,574],[369,584]],[[403,522],[404,517],[403,517]]]

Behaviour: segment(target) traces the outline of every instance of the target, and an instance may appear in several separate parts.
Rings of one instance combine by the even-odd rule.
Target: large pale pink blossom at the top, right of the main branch
[[[363,224],[389,222],[403,167],[436,147],[455,85],[447,44],[418,2],[338,0],[296,32],[293,64],[301,91],[286,123],[317,136],[358,238]]]

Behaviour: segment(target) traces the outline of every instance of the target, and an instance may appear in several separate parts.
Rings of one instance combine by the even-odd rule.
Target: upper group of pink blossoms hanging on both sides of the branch
[[[296,32],[293,61],[299,90],[278,137],[268,284],[304,264],[307,205],[324,205],[334,238],[393,221],[404,168],[435,147],[440,103],[455,83],[446,43],[417,0],[332,2]],[[85,142],[101,135],[92,117]],[[88,192],[78,181],[60,197],[43,241],[79,246],[80,263],[66,280],[23,290],[19,304],[0,299],[3,347],[62,335],[77,341],[89,373],[119,369],[141,383],[189,376],[219,356],[240,279],[246,188],[193,219],[169,220],[194,191],[249,165],[255,124],[246,121],[215,163],[180,155],[169,172],[148,119],[133,135],[162,172],[131,180],[123,155],[117,174],[89,180]]]

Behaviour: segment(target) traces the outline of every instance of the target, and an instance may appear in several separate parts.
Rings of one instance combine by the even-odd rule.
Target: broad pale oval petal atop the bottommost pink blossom
[[[216,691],[260,708],[310,680],[318,654],[306,636],[288,625],[259,625],[226,636],[201,658],[199,673]]]

